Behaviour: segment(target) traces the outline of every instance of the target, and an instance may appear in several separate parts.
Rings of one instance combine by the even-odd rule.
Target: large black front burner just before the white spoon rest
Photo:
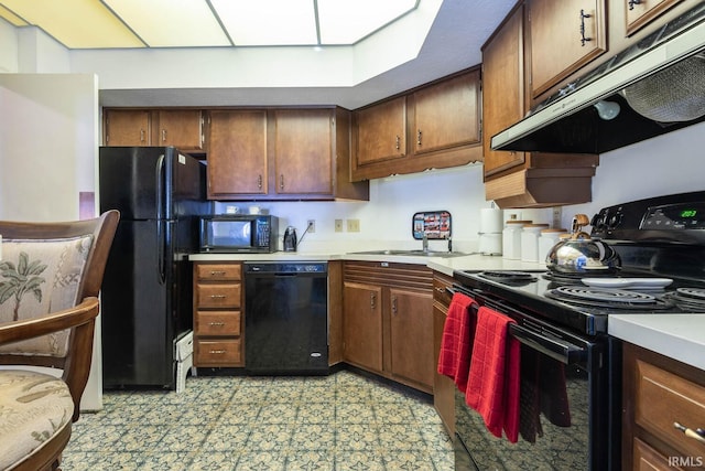
[[[670,299],[646,292],[574,285],[550,289],[545,296],[570,304],[606,309],[663,310],[675,306],[674,301]]]

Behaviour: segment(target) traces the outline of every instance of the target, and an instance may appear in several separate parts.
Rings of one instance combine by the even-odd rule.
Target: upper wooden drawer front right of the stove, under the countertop
[[[705,443],[686,437],[673,424],[705,428],[705,387],[637,360],[634,421],[683,456],[702,457]]]

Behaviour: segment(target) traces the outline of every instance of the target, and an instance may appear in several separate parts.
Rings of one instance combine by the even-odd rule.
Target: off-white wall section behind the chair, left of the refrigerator
[[[69,221],[95,191],[95,75],[0,74],[0,218]]]

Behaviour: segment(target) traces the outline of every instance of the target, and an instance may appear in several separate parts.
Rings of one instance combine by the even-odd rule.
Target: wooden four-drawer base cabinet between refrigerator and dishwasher
[[[245,366],[242,264],[194,264],[194,366]]]

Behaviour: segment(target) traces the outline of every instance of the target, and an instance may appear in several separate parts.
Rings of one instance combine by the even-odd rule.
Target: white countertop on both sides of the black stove
[[[194,254],[193,261],[319,261],[362,260],[425,265],[453,276],[454,270],[540,270],[544,264],[470,254],[462,257],[368,255],[332,251],[273,254]],[[680,362],[705,370],[705,314],[612,314],[608,333]]]

